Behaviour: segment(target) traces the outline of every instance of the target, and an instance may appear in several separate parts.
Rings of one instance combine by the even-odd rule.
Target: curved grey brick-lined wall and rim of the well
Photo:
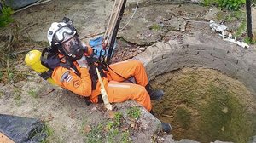
[[[183,67],[206,67],[224,72],[256,92],[256,56],[253,49],[243,49],[222,39],[183,37],[158,42],[134,59],[143,61],[149,80]]]

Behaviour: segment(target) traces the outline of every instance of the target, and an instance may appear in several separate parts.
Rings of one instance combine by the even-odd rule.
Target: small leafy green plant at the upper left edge
[[[14,14],[14,11],[6,6],[3,6],[2,14],[0,13],[0,27],[8,26],[9,23],[13,22],[13,18],[11,17]]]

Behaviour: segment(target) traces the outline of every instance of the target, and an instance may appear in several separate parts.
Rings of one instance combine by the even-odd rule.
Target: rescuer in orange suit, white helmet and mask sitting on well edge
[[[93,49],[79,40],[76,29],[65,22],[51,24],[47,37],[50,49],[58,55],[60,63],[52,72],[52,79],[64,89],[85,96],[92,103],[98,103],[101,97],[101,84],[94,79],[94,64],[90,64]],[[108,93],[110,103],[136,100],[152,112],[150,100],[163,96],[162,90],[153,90],[148,84],[148,77],[139,60],[125,60],[102,68],[102,81]],[[136,83],[124,83],[134,77]],[[163,130],[171,131],[169,123],[162,123]]]

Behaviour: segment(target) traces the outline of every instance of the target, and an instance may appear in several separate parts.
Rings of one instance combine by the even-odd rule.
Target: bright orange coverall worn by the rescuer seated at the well
[[[92,49],[89,47],[89,54]],[[98,102],[98,95],[101,94],[101,84],[96,83],[96,89],[92,90],[89,69],[80,68],[79,64],[74,61],[74,65],[81,73],[79,77],[75,72],[62,66],[55,68],[52,79],[55,83],[64,89],[73,91],[85,97],[90,97],[92,103]],[[148,77],[143,64],[138,60],[125,60],[112,65],[109,65],[114,72],[119,75],[129,78],[135,77],[135,83],[122,83],[125,79],[119,77],[111,69],[104,71],[107,77],[102,77],[105,89],[108,94],[110,103],[123,102],[125,100],[136,100],[144,106],[148,111],[151,110],[151,101],[147,90],[144,88],[148,84]]]

